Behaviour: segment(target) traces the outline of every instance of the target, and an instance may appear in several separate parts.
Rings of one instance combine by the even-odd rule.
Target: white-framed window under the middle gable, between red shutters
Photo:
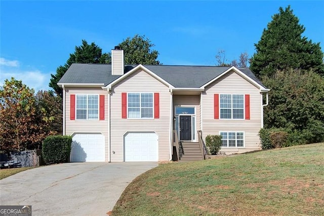
[[[153,93],[128,93],[128,118],[153,118]]]

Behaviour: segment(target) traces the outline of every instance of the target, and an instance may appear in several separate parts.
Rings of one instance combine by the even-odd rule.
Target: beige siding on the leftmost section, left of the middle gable
[[[108,94],[102,88],[65,88],[65,134],[102,133],[105,136],[105,161],[108,161]],[[70,120],[71,94],[105,95],[105,120]],[[98,98],[99,99],[99,98]],[[98,104],[99,106],[99,104]]]

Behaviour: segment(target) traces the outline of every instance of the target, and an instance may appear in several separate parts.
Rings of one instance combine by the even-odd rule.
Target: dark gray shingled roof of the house
[[[126,65],[125,73],[136,65]],[[199,88],[222,74],[229,67],[218,66],[177,66],[177,65],[144,65],[160,78],[176,88]],[[244,74],[262,85],[248,67],[239,67]],[[111,75],[111,64],[74,63],[59,81],[64,83],[94,83],[105,86],[120,76]],[[262,85],[263,86],[263,85]],[[264,86],[263,86],[264,87]]]

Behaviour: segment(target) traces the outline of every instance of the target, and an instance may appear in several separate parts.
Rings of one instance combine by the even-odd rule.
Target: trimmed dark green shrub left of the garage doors
[[[46,164],[68,162],[71,152],[71,136],[48,136],[43,141],[42,154]]]

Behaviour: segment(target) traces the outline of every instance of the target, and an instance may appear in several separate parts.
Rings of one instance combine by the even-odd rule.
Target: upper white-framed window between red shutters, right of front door
[[[244,119],[244,95],[220,95],[221,119]]]

